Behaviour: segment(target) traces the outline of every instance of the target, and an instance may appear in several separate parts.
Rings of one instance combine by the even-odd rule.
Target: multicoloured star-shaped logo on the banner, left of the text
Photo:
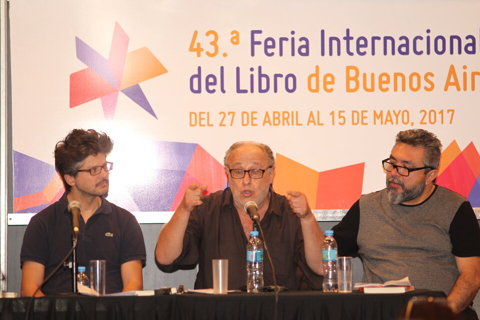
[[[70,74],[70,108],[100,98],[105,118],[112,119],[121,91],[157,118],[138,83],[168,71],[146,47],[127,52],[128,41],[128,35],[115,22],[106,59],[75,37],[76,56],[88,67]]]

